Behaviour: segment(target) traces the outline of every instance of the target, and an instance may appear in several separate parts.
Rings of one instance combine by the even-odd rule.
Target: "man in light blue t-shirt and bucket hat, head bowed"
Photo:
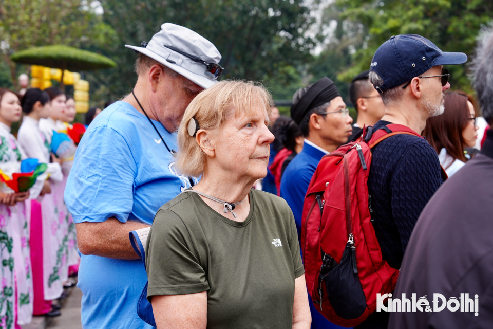
[[[208,40],[171,23],[139,52],[132,93],[89,125],[67,180],[65,202],[82,253],[85,329],[151,328],[137,316],[147,276],[128,233],[191,184],[175,169],[176,129],[186,106],[222,72]]]

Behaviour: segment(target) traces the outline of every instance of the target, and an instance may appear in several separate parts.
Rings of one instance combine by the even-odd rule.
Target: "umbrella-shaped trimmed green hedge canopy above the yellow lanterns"
[[[63,45],[29,48],[17,51],[10,58],[17,63],[43,65],[70,71],[111,68],[117,65],[106,56]]]

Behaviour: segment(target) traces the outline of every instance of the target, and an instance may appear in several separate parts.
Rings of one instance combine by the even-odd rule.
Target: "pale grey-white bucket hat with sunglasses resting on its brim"
[[[164,23],[144,47],[125,45],[178,72],[202,88],[217,82],[223,68],[216,46],[186,27]]]

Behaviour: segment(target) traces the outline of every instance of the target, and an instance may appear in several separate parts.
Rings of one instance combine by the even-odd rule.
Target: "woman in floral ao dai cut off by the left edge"
[[[0,88],[0,169],[11,177],[20,172],[26,158],[11,133],[11,124],[21,118],[21,102],[9,89]],[[29,248],[31,202],[43,188],[43,178],[29,192],[15,192],[0,184],[0,326],[19,328],[32,318],[33,294]]]

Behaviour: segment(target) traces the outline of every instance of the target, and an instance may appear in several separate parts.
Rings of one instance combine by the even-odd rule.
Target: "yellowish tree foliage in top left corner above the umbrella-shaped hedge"
[[[115,33],[81,0],[2,0],[0,42],[15,84],[16,66],[9,56],[31,47],[64,44],[104,49]]]

